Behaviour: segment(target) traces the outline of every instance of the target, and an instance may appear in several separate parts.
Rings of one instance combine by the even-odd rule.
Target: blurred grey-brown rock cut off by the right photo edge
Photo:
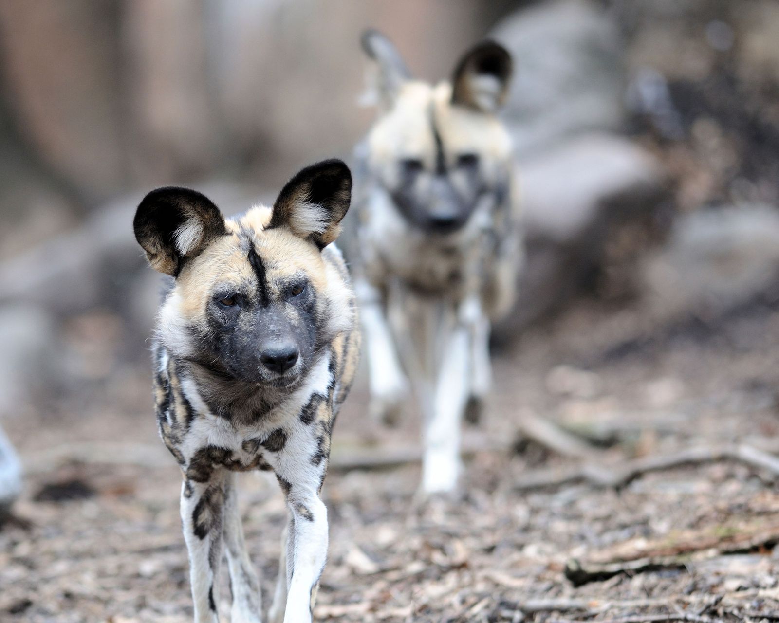
[[[779,211],[730,206],[687,214],[642,262],[643,296],[660,319],[714,319],[779,283]]]

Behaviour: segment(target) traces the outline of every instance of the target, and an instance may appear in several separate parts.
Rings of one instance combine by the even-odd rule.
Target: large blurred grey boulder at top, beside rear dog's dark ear
[[[520,156],[622,126],[622,47],[614,21],[593,2],[540,3],[502,20],[491,36],[514,58],[504,116]]]

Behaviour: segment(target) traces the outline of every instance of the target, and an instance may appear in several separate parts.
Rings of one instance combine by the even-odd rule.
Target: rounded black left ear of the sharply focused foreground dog
[[[157,188],[143,198],[132,227],[152,268],[172,276],[178,276],[186,259],[227,234],[224,217],[210,199],[172,186]]]

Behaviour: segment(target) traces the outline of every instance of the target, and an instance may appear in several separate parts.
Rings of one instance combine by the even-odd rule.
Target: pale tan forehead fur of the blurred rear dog
[[[474,111],[451,103],[452,85],[436,86],[410,80],[400,87],[393,108],[384,114],[368,135],[372,159],[389,163],[403,157],[421,158],[432,166],[435,139],[430,126],[430,109],[447,154],[478,153],[482,158],[506,160],[511,140],[494,114]]]

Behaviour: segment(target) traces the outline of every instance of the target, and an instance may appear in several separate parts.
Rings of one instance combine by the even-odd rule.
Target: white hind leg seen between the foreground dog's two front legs
[[[259,577],[252,567],[249,552],[246,551],[235,479],[236,474],[227,474],[224,487],[224,544],[233,593],[230,621],[231,623],[260,623],[262,599]]]

